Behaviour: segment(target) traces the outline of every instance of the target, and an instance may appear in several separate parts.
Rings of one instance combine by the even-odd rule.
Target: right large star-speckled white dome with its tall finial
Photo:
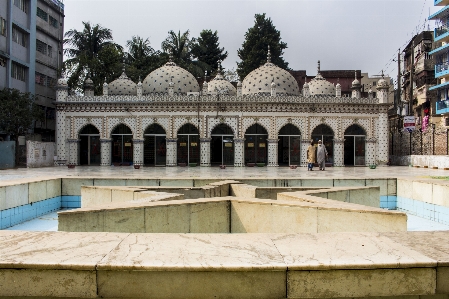
[[[268,48],[267,63],[249,73],[242,82],[242,94],[270,94],[271,83],[276,85],[276,94],[299,95],[299,87],[295,78],[286,70],[271,63]]]

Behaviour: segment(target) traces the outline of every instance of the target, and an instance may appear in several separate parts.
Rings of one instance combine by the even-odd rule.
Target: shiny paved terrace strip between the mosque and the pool
[[[325,171],[307,171],[306,167],[142,167],[132,166],[65,166],[46,168],[19,168],[0,170],[1,180],[30,178],[39,176],[95,176],[95,177],[145,177],[145,178],[383,178],[383,177],[449,177],[449,170],[434,170],[407,166],[384,166],[376,169],[368,167],[328,167]]]

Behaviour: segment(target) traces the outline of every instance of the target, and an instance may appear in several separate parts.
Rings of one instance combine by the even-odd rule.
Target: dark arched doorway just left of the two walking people
[[[292,125],[287,124],[279,130],[278,164],[299,165],[301,161],[301,132]]]

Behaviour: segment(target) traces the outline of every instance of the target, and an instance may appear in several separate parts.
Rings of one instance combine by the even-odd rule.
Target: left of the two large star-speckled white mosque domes
[[[175,93],[200,91],[198,81],[191,73],[169,61],[143,80],[143,93],[168,93],[170,82],[173,82]]]

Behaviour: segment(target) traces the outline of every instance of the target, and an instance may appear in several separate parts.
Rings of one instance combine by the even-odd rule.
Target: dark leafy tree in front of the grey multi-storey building
[[[35,100],[31,93],[12,88],[0,90],[0,131],[16,141],[16,165],[19,156],[18,136],[28,133],[34,121],[44,121],[44,110]]]

